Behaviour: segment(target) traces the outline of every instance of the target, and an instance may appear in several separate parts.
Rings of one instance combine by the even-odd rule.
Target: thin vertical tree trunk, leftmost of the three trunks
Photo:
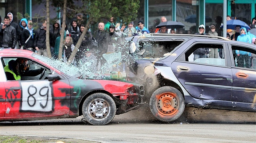
[[[50,49],[50,2],[46,0],[46,15],[47,15],[47,23],[46,23],[46,50],[48,53],[48,57],[52,58],[51,49]]]

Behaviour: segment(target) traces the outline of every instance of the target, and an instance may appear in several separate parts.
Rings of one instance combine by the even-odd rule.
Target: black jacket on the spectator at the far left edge
[[[2,47],[11,47],[14,49],[17,43],[16,29],[8,25],[5,29],[0,30],[0,34],[3,34]]]

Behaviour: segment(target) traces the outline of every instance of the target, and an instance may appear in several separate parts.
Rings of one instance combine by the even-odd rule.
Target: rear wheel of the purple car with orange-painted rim
[[[162,122],[176,120],[182,115],[184,108],[182,93],[171,86],[156,89],[150,97],[150,111],[156,119]]]

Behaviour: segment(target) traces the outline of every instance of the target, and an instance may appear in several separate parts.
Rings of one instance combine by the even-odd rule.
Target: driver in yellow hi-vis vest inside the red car
[[[7,80],[20,80],[21,76],[37,76],[41,74],[43,68],[29,70],[29,62],[27,59],[16,59],[8,62],[4,67]]]

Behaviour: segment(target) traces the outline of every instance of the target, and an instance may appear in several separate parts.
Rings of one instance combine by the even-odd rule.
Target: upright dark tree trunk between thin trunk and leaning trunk
[[[66,13],[67,13],[67,0],[64,0],[63,5],[63,21],[62,21],[62,29],[61,29],[61,39],[60,39],[60,46],[59,46],[59,56],[58,59],[61,60],[62,58],[62,51],[63,51],[63,43],[64,43],[64,34],[65,34],[65,25],[66,25]]]

